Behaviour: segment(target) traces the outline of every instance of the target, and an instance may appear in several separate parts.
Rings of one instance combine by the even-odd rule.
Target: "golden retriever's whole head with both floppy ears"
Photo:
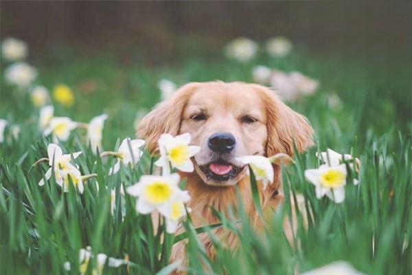
[[[312,144],[306,119],[272,91],[247,83],[190,83],[161,102],[141,121],[138,135],[150,153],[162,133],[190,133],[201,146],[195,171],[205,184],[231,186],[247,173],[236,161],[243,155],[293,155]]]

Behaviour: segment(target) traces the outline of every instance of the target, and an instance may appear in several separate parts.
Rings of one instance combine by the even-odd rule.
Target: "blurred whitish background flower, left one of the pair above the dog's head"
[[[258,52],[258,44],[244,37],[234,39],[225,47],[226,55],[240,62],[250,61]]]

